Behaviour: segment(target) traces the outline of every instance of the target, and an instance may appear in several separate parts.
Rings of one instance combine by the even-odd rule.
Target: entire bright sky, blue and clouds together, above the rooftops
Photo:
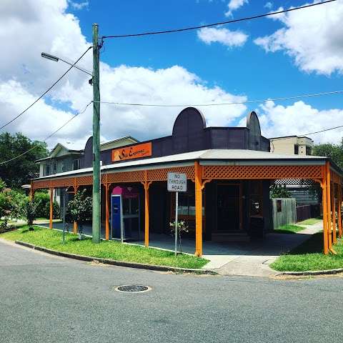
[[[10,120],[50,86],[67,66],[41,51],[76,60],[100,35],[131,34],[210,24],[317,0],[20,0],[0,2],[0,38],[9,54],[0,64],[0,109]],[[229,13],[228,13],[229,12]],[[106,39],[101,49],[101,100],[152,104],[252,101],[342,89],[343,0],[224,26],[175,34]],[[23,57],[25,59],[23,61]],[[80,62],[91,69],[91,51]],[[89,77],[71,71],[6,129],[31,139],[48,134],[92,99]],[[267,136],[338,126],[342,95],[200,107],[209,126],[244,126],[256,110]],[[101,105],[101,139],[152,139],[171,134],[182,108]],[[41,119],[44,118],[44,121]],[[91,106],[49,140],[82,147],[91,135]],[[343,130],[312,136],[339,142]]]

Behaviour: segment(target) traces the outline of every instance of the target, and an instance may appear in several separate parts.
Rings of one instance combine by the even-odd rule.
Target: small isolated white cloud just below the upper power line
[[[214,42],[224,44],[229,48],[233,46],[243,46],[248,39],[248,35],[242,31],[230,31],[228,29],[215,29],[204,27],[197,31],[199,39],[206,44]]]

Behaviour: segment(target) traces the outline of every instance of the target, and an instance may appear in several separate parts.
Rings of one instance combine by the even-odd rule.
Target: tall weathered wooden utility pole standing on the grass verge
[[[101,182],[100,182],[100,83],[98,24],[93,24],[93,215],[91,234],[93,243],[100,243]]]

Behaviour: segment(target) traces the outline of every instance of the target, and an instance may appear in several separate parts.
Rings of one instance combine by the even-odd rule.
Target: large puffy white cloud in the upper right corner
[[[254,42],[267,52],[284,51],[302,71],[326,75],[338,71],[342,74],[342,16],[341,1],[271,16],[283,27]]]

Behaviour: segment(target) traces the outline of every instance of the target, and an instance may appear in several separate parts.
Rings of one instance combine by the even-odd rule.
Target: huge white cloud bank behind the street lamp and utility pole
[[[13,0],[0,3],[0,38],[6,41],[6,54],[0,64],[0,109],[4,124],[19,114],[69,67],[62,62],[41,59],[41,51],[76,60],[90,45],[81,34],[76,16],[67,13],[68,2],[27,0],[23,6]],[[6,29],[4,29],[6,27]],[[25,34],[23,34],[25,33]],[[91,51],[80,66],[91,69]],[[92,99],[89,76],[73,70],[23,116],[5,130],[22,131],[31,139],[45,136],[64,124]],[[182,66],[146,69],[109,66],[101,63],[101,100],[159,104],[199,104],[244,101],[217,86],[208,86]],[[149,139],[172,133],[172,124],[182,108],[114,106],[101,104],[101,139],[131,134]],[[204,108],[209,125],[229,125],[246,110],[244,105]],[[71,121],[49,146],[67,141],[82,147],[91,135],[91,106]],[[68,144],[66,144],[68,146]]]

